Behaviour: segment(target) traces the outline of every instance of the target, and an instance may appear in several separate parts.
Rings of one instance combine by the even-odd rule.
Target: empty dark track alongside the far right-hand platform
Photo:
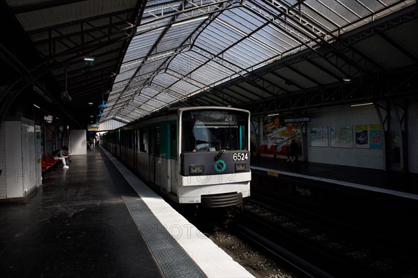
[[[257,204],[247,206],[240,216],[254,231],[279,246],[288,261],[298,265],[311,277],[395,277],[393,261],[377,258],[370,249],[330,231],[318,229],[303,219],[273,212]],[[280,254],[280,253],[279,253]],[[376,262],[380,269],[371,270],[366,265]],[[387,273],[385,273],[387,272]]]

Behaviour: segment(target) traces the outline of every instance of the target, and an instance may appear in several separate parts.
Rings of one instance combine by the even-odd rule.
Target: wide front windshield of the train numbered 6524
[[[183,152],[248,150],[248,116],[244,111],[183,111]]]

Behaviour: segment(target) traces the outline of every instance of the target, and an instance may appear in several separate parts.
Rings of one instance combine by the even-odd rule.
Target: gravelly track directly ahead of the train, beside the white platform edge
[[[231,213],[226,216],[223,210],[213,211],[199,212],[191,222],[254,277],[332,277],[254,230],[244,221],[247,213],[235,211],[232,213],[235,217],[231,217]]]

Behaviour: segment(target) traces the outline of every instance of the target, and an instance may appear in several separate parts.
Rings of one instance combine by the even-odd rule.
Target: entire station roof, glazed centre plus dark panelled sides
[[[100,122],[130,123],[167,107],[382,98],[382,80],[405,95],[417,70],[415,0],[6,2],[40,57],[31,85],[54,99],[33,72],[52,75],[79,123],[98,112],[88,102],[106,102]]]

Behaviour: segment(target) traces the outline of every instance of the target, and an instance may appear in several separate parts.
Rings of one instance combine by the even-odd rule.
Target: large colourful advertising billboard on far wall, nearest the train
[[[263,144],[268,148],[274,145],[277,150],[281,146],[290,145],[292,139],[297,143],[302,141],[300,123],[284,123],[280,116],[265,116],[263,118]]]

